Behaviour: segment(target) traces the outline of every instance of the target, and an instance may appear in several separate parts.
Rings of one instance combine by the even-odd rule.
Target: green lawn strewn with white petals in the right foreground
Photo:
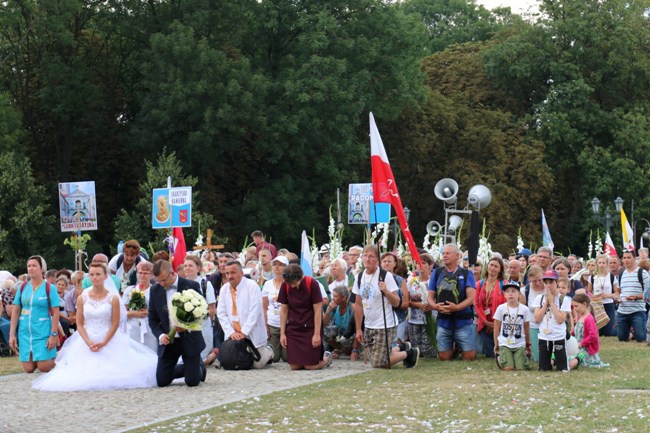
[[[650,431],[650,348],[610,337],[601,339],[601,358],[612,367],[570,373],[506,373],[483,356],[420,360],[411,370],[373,370],[137,431]]]

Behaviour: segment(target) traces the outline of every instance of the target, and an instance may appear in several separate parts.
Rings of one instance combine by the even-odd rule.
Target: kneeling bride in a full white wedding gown
[[[92,288],[77,299],[77,332],[57,357],[54,370],[32,384],[42,391],[93,391],[156,385],[154,352],[119,329],[119,295],[104,287],[107,269],[91,263]]]

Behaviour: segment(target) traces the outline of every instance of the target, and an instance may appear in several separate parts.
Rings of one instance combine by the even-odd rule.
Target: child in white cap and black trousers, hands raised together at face
[[[539,323],[539,370],[551,371],[551,356],[555,354],[558,371],[568,371],[566,357],[566,315],[571,314],[571,299],[567,296],[560,305],[557,272],[544,272],[545,293],[535,298],[534,319]]]

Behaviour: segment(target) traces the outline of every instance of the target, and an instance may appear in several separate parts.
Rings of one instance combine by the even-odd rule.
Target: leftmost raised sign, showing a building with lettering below
[[[95,182],[59,183],[61,231],[97,230]]]

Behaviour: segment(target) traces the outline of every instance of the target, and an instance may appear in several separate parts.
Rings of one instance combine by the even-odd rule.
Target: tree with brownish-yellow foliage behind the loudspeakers
[[[492,203],[481,210],[490,242],[507,253],[517,244],[519,227],[528,243],[539,244],[539,209],[551,198],[553,179],[543,161],[543,143],[526,134],[523,122],[513,121],[509,110],[516,101],[486,76],[483,54],[494,44],[455,45],[427,57],[428,104],[379,128],[402,202],[419,211],[411,213],[414,233],[424,233],[430,220],[444,222],[443,203],[433,194],[440,179],[458,182],[461,208],[469,188],[481,183],[492,192]],[[463,241],[468,234],[466,218]]]

